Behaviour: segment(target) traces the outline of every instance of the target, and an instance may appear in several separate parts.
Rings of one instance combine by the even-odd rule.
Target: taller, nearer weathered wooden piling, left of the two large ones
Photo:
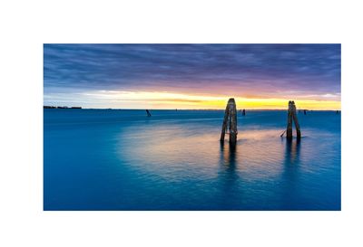
[[[230,129],[230,144],[232,146],[236,145],[237,142],[237,109],[236,102],[233,98],[228,100],[226,110],[224,112],[223,125],[221,127],[221,141],[224,141],[224,135],[226,129]]]

